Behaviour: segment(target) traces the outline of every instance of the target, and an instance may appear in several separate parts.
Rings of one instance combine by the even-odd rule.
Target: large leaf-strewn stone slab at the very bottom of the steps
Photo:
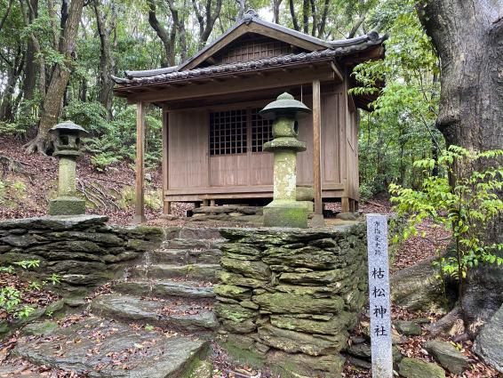
[[[168,338],[156,330],[91,317],[49,335],[21,337],[13,352],[39,366],[94,378],[179,378],[189,376],[207,350],[207,342],[193,337]]]

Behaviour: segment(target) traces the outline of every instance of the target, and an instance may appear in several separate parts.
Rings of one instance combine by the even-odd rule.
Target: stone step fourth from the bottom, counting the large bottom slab
[[[221,271],[219,264],[153,264],[132,268],[132,277],[143,278],[187,278],[197,281],[216,282]]]

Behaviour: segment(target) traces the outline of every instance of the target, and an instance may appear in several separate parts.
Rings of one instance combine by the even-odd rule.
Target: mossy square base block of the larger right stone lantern
[[[307,206],[297,201],[273,201],[264,207],[264,226],[307,228]]]

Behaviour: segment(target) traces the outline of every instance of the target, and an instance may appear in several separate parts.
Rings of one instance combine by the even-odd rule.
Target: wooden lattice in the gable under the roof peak
[[[224,52],[218,63],[234,63],[237,61],[259,60],[272,56],[291,53],[289,44],[270,38],[260,38],[249,42],[240,42]]]

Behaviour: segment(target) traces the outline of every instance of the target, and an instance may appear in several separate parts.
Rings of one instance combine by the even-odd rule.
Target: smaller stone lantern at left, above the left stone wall
[[[81,138],[88,133],[79,125],[65,121],[49,131],[55,136],[54,157],[60,158],[58,197],[49,203],[49,215],[79,215],[85,213],[85,200],[76,196],[76,158],[81,157]]]

